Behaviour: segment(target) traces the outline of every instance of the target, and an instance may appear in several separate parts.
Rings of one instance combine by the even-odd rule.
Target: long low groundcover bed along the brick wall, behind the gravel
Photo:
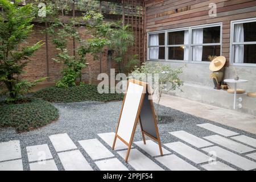
[[[97,85],[72,86],[69,88],[57,88],[55,86],[39,90],[33,94],[34,98],[40,98],[49,102],[81,102],[81,101],[120,101],[123,94],[98,93]]]

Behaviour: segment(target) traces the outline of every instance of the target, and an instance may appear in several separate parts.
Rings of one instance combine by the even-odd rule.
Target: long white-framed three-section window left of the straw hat
[[[162,34],[162,51],[164,59],[157,59],[152,49],[151,39]],[[164,36],[163,36],[164,35]],[[162,32],[148,32],[148,60],[183,61],[191,63],[209,63],[208,56],[221,55],[222,23],[176,28]],[[160,45],[160,44],[159,44]],[[158,46],[160,48],[160,46]],[[154,51],[153,51],[154,50]],[[159,55],[158,55],[159,56]],[[152,59],[154,58],[154,59]]]

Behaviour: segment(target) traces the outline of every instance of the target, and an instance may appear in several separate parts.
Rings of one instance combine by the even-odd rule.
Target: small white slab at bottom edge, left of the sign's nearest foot
[[[117,158],[98,160],[95,164],[101,171],[129,171]]]

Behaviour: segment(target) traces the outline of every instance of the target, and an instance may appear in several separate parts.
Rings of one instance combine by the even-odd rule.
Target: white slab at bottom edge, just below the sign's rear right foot
[[[155,159],[171,169],[171,171],[199,171],[199,169],[185,162],[185,160],[180,159],[176,155],[166,155]]]

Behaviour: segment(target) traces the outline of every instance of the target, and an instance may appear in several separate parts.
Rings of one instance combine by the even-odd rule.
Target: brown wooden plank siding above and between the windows
[[[208,15],[209,3],[216,3],[217,17]],[[228,61],[230,21],[256,16],[255,0],[145,0],[145,6],[147,32],[222,22],[222,55]]]

